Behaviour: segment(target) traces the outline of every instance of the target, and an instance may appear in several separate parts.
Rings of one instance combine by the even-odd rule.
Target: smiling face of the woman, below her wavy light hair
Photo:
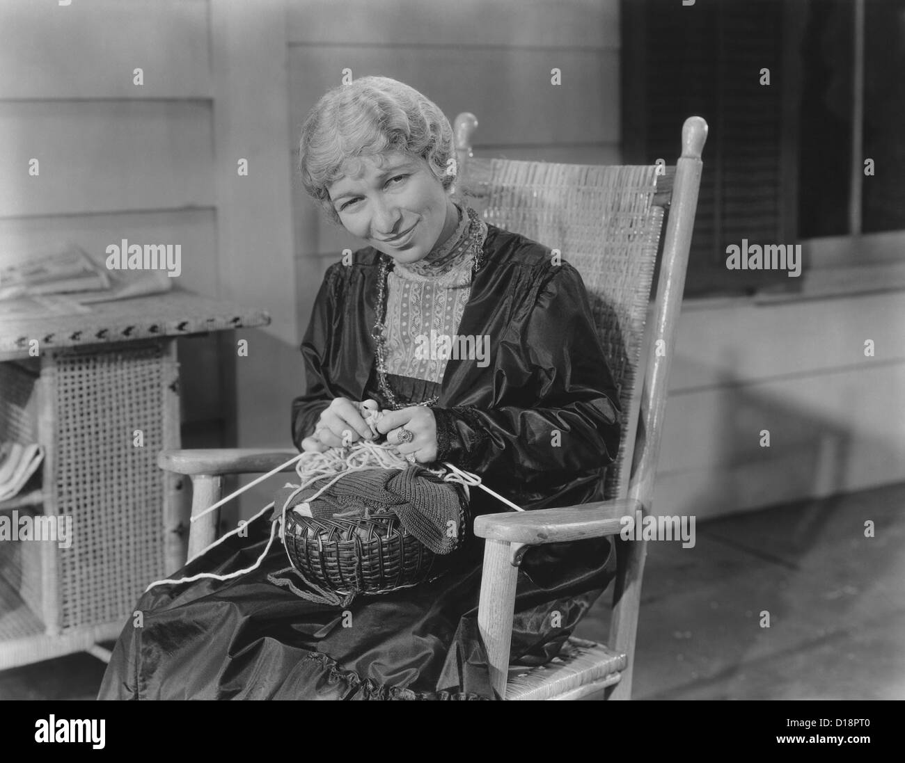
[[[459,222],[443,184],[421,157],[399,152],[363,156],[329,185],[339,221],[353,235],[402,263],[424,258]],[[358,170],[360,169],[360,172]]]

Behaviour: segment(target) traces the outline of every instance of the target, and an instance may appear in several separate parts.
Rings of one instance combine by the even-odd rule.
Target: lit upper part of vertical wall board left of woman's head
[[[212,0],[214,143],[223,297],[271,314],[262,331],[296,343],[292,168],[281,0]],[[239,174],[246,159],[248,173]],[[262,265],[264,267],[262,267]]]

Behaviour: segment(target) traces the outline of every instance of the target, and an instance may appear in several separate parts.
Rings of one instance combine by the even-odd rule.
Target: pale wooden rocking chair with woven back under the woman
[[[619,452],[607,470],[605,501],[475,520],[475,534],[486,539],[478,623],[491,684],[497,697],[506,700],[629,699],[646,542],[621,540],[621,518],[652,509],[707,123],[699,117],[686,120],[681,158],[674,167],[477,159],[471,147],[476,127],[472,114],[455,120],[459,190],[486,221],[559,250],[581,273],[624,411]],[[651,303],[658,252],[660,274]],[[191,477],[195,516],[220,500],[224,475],[266,472],[292,455],[295,451],[169,450],[161,452],[158,463]],[[214,542],[216,526],[216,512],[193,524],[189,558]],[[541,543],[603,535],[614,537],[617,557],[608,643],[573,637],[547,665],[510,668],[524,551]]]

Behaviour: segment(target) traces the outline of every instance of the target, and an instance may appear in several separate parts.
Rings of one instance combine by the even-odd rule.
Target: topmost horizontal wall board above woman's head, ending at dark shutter
[[[291,0],[292,43],[619,47],[618,0]]]

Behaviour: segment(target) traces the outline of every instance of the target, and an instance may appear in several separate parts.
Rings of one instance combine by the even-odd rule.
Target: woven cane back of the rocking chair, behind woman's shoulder
[[[664,214],[654,203],[657,169],[468,157],[460,171],[458,190],[485,221],[558,250],[585,281],[623,410],[606,499],[624,498],[628,490],[626,453],[638,418],[639,363]]]

